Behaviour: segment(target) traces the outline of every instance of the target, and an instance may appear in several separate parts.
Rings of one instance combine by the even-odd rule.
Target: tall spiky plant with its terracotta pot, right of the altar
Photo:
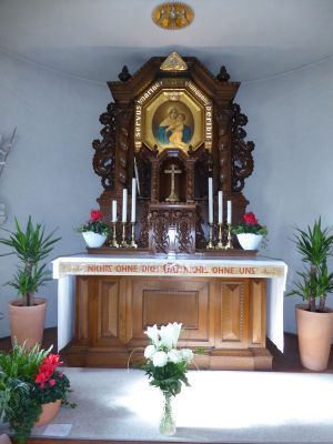
[[[302,365],[314,371],[327,367],[333,336],[333,310],[326,307],[327,293],[333,291],[333,273],[327,258],[333,255],[333,235],[321,225],[321,218],[307,231],[296,228],[293,239],[305,269],[287,295],[299,295],[305,304],[295,306],[299,349]]]

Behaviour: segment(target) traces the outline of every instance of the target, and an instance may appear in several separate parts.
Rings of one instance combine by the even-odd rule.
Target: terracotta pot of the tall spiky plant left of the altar
[[[23,344],[31,349],[34,344],[42,344],[44,332],[47,301],[44,299],[34,297],[34,305],[24,306],[22,301],[13,301],[9,303],[9,322],[11,342],[14,339],[18,344]]]

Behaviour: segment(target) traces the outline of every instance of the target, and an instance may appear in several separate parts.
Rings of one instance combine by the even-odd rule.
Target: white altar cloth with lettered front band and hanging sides
[[[103,256],[79,254],[52,261],[58,279],[58,350],[72,339],[74,331],[74,275],[132,275],[188,278],[266,278],[268,337],[283,352],[283,293],[287,266],[269,258],[216,258],[147,255]]]

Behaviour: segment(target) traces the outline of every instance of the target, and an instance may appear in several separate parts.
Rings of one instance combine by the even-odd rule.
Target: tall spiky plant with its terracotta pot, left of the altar
[[[16,254],[21,261],[13,279],[8,282],[17,290],[18,295],[22,296],[9,304],[10,330],[12,342],[16,337],[20,344],[24,342],[27,347],[31,347],[42,342],[47,307],[47,301],[34,297],[34,294],[51,280],[51,272],[42,261],[60,238],[53,238],[54,231],[46,234],[46,226],[40,223],[33,224],[31,216],[24,230],[17,219],[14,225],[16,231],[1,228],[9,233],[9,238],[0,239],[1,244],[11,249],[9,253],[1,255]]]

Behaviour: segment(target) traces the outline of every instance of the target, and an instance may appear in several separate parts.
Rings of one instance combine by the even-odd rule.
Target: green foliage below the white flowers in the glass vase
[[[184,361],[176,364],[168,362],[163,367],[154,366],[152,361],[148,361],[143,369],[151,380],[150,385],[159,387],[164,394],[175,396],[181,392],[182,382],[190,385],[185,376],[188,363]]]

